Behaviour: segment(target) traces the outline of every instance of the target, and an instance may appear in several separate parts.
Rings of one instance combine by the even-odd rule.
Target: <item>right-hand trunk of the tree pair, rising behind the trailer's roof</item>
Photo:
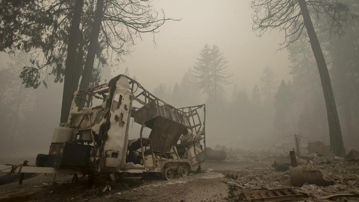
[[[93,63],[95,61],[96,48],[98,47],[98,36],[100,34],[101,20],[103,17],[103,1],[97,0],[95,17],[92,23],[90,44],[87,51],[84,71],[81,78],[80,89],[86,89],[92,80]]]

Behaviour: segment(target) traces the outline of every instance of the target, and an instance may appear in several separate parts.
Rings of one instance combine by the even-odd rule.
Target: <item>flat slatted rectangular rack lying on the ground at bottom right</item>
[[[289,201],[303,198],[303,194],[296,192],[292,188],[266,189],[250,192],[243,192],[247,201]]]

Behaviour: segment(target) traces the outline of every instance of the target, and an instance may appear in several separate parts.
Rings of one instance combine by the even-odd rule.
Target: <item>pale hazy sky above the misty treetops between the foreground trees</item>
[[[153,35],[142,35],[136,40],[135,51],[124,57],[115,73],[123,73],[128,67],[131,77],[135,74],[145,88],[153,91],[159,83],[173,86],[181,82],[186,70],[192,67],[202,47],[208,43],[220,47],[229,61],[228,71],[234,73],[233,83],[251,92],[254,84],[260,84],[262,69],[269,65],[275,69],[278,80],[289,78],[289,61],[286,50],[278,51],[283,35],[273,31],[259,38],[252,32],[250,0],[154,0],[157,10],[164,10],[166,17],[181,21],[168,21],[155,35],[158,44],[154,48]],[[7,66],[7,54],[0,53],[0,66]],[[232,85],[227,87],[232,89]]]

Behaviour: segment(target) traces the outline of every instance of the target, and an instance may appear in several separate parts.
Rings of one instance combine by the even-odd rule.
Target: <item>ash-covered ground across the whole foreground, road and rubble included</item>
[[[78,183],[71,183],[73,176],[56,175],[53,183],[53,174],[36,174],[28,176],[23,187],[17,188],[18,174],[11,177],[2,174],[0,190],[35,192],[35,201],[245,201],[243,192],[246,191],[290,187],[303,194],[303,198],[296,201],[359,201],[357,160],[318,155],[303,157],[307,161],[305,169],[320,171],[323,178],[334,184],[292,187],[289,171],[276,171],[273,166],[278,158],[289,159],[289,152],[234,150],[224,161],[204,162],[202,173],[193,170],[186,177],[176,176],[170,181],[145,174],[142,179],[110,182],[111,190],[105,192],[106,177],[96,178],[89,187],[87,176],[79,176]]]

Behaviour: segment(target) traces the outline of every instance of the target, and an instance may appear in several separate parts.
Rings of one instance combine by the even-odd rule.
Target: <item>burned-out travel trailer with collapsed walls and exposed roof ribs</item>
[[[37,166],[39,173],[154,172],[170,180],[200,167],[204,148],[205,105],[175,108],[118,75],[74,93],[67,123],[55,128]]]

